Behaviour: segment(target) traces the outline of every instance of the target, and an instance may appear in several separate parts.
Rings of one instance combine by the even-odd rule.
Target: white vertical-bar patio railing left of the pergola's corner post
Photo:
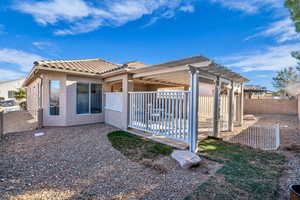
[[[129,92],[129,127],[188,141],[190,91]]]

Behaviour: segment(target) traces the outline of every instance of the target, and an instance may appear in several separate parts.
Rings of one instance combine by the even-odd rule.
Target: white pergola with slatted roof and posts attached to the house
[[[161,84],[165,86],[182,87],[189,92],[188,101],[188,143],[190,151],[197,151],[198,141],[198,111],[199,111],[199,84],[214,85],[214,113],[213,135],[220,137],[220,95],[221,88],[225,87],[229,95],[228,130],[234,127],[234,98],[238,93],[238,123],[243,123],[243,84],[248,79],[215,63],[203,56],[194,56],[157,65],[143,66],[127,69],[127,76],[122,81],[123,95],[129,99],[127,105],[131,106],[130,92],[134,92],[135,83]],[[135,91],[136,93],[143,91]],[[159,101],[158,101],[159,102]],[[178,108],[178,106],[177,106]],[[131,118],[130,108],[125,115]],[[181,111],[179,111],[181,112]],[[178,115],[178,114],[177,114]],[[182,115],[182,114],[179,114]],[[180,117],[181,118],[181,117]],[[177,123],[177,122],[176,122]],[[176,128],[177,129],[177,128]]]

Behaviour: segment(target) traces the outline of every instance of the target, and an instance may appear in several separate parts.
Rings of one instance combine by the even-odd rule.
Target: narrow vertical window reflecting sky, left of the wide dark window
[[[50,115],[59,115],[60,82],[49,81]]]

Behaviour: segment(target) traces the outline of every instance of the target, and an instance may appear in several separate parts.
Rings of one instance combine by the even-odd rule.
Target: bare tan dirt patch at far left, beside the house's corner
[[[16,111],[4,114],[4,134],[35,130],[36,120],[27,111]]]

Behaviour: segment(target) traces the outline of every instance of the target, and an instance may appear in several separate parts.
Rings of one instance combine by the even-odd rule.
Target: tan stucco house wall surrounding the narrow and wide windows
[[[42,108],[44,126],[73,126],[80,124],[92,124],[98,122],[104,122],[104,110],[100,114],[76,114],[76,83],[102,83],[101,79],[84,78],[69,76],[65,73],[55,72],[43,72],[41,74],[43,79],[42,90]],[[49,111],[49,81],[60,81],[60,98],[59,98],[59,115],[50,115]],[[35,79],[27,87],[28,97],[27,104],[28,109],[32,115],[35,115],[38,110],[38,86],[40,79]],[[103,101],[102,101],[103,102]]]

